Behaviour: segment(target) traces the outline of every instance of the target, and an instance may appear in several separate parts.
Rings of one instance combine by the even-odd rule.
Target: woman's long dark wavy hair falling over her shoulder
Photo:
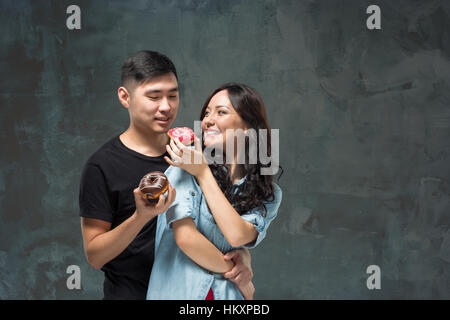
[[[271,135],[266,109],[261,96],[253,88],[240,83],[227,83],[215,89],[203,105],[200,120],[203,120],[205,117],[206,108],[212,97],[222,90],[227,90],[228,97],[234,109],[250,128],[255,129],[257,133],[258,129],[267,129],[267,155],[270,156]],[[224,164],[209,165],[220,189],[240,215],[256,207],[261,207],[263,209],[263,215],[265,215],[266,207],[263,201],[274,200],[273,176],[260,174],[261,168],[270,167],[271,164],[261,164],[259,159],[259,134],[256,136],[258,139],[256,164],[249,164],[249,139],[248,137],[245,138],[246,161],[243,166],[246,179],[244,183],[238,186],[237,191],[232,189],[233,183],[231,182],[228,169]]]

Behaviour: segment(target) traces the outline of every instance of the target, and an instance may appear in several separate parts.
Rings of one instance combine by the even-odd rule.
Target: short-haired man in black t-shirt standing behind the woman
[[[141,51],[125,61],[120,103],[128,109],[129,128],[100,147],[86,162],[80,183],[84,251],[90,265],[105,273],[104,299],[145,299],[153,265],[156,219],[175,199],[156,205],[139,196],[137,185],[150,171],[169,166],[167,131],[178,111],[178,77],[164,55]],[[224,276],[238,287],[252,278],[248,250],[227,253],[234,268]]]

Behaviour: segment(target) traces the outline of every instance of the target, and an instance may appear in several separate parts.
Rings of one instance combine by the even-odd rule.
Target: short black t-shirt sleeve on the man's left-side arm
[[[86,163],[80,182],[80,216],[113,221],[113,209],[109,190],[101,169],[92,163]]]

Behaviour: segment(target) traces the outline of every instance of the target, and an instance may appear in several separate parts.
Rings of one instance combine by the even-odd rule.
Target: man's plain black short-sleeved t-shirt
[[[164,156],[148,157],[127,148],[119,136],[100,147],[86,162],[80,183],[80,216],[111,223],[111,229],[136,210],[133,190],[150,171],[164,172]],[[130,245],[102,267],[104,299],[145,299],[154,261],[156,219]]]

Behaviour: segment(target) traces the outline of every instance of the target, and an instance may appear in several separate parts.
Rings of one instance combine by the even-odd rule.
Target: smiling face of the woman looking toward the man
[[[202,120],[205,146],[226,150],[226,130],[246,130],[247,128],[248,126],[231,104],[228,91],[217,92],[209,101]]]

